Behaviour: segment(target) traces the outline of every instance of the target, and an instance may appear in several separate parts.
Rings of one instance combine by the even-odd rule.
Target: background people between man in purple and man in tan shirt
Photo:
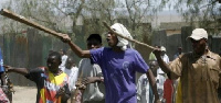
[[[160,58],[169,64],[169,57],[166,54],[166,47],[155,46],[161,50]],[[182,48],[178,47],[177,53],[173,55],[173,59],[178,58],[182,53]],[[154,53],[149,55],[149,67],[154,72],[155,79],[157,81],[158,94],[162,103],[175,103],[176,102],[176,91],[177,91],[177,81],[171,80],[158,66],[157,58]],[[148,79],[143,75],[139,77],[137,82],[137,102],[138,103],[154,103],[152,92],[148,85]]]

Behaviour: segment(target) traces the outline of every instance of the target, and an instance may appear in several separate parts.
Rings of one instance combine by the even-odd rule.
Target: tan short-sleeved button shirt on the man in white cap
[[[202,57],[193,53],[179,56],[170,65],[171,79],[180,77],[182,103],[219,103],[221,58],[208,50]]]

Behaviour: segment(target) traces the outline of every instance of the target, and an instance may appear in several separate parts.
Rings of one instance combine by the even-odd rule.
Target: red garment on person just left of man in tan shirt
[[[167,79],[164,83],[164,99],[166,99],[166,103],[172,103],[172,94],[173,94],[172,80]]]

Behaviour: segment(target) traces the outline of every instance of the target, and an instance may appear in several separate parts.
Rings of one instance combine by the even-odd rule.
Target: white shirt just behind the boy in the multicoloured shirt
[[[77,75],[78,75],[78,68],[72,67],[72,69],[62,68],[62,71],[64,71],[69,76],[69,88],[70,91],[75,90],[75,83],[77,81]]]

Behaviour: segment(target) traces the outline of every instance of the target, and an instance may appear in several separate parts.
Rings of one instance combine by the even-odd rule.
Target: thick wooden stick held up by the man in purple
[[[25,18],[22,16],[22,15],[15,14],[15,13],[13,13],[13,12],[7,10],[7,9],[2,9],[2,10],[0,11],[0,14],[3,15],[3,16],[10,18],[10,19],[12,19],[12,20],[15,20],[15,21],[18,21],[18,22],[24,23],[24,24],[27,24],[27,25],[30,25],[30,26],[32,26],[32,27],[35,27],[35,28],[38,28],[38,30],[40,30],[40,31],[43,31],[43,32],[45,32],[45,33],[52,34],[52,35],[54,35],[54,36],[56,36],[56,37],[62,37],[62,34],[56,33],[55,31],[50,30],[50,28],[48,28],[48,27],[44,27],[44,26],[42,26],[42,25],[40,25],[40,24],[38,24],[38,23],[33,22],[33,21],[30,21],[30,20],[25,19]]]

